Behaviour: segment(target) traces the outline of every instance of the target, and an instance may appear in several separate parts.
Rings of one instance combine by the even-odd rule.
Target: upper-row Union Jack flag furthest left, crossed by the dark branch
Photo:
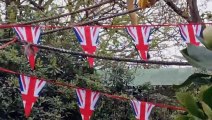
[[[40,27],[32,27],[32,26],[26,26],[26,27],[14,27],[14,30],[19,37],[21,41],[32,43],[32,44],[39,44],[40,43],[40,35],[41,35],[41,29]],[[32,70],[35,68],[35,58],[36,53],[38,52],[37,47],[32,47],[31,49],[26,48],[27,45],[25,45],[27,58],[29,60],[29,64]]]

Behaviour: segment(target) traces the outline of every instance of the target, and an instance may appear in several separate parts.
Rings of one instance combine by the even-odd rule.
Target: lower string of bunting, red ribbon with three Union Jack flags
[[[0,67],[0,71],[19,75],[19,84],[26,117],[29,117],[33,104],[36,102],[37,98],[39,97],[39,92],[43,89],[46,83],[76,89],[78,105],[80,107],[80,112],[82,114],[83,120],[89,120],[89,118],[92,116],[100,94],[113,99],[130,101],[137,119],[148,120],[148,116],[150,115],[151,109],[154,106],[172,110],[185,111],[185,109],[182,107],[138,101],[135,99],[130,99],[118,95],[111,95],[103,92],[92,91],[90,89],[80,88],[75,85],[56,82],[55,80],[46,80],[43,78],[37,78],[36,76],[25,75],[2,67]],[[146,119],[144,119],[144,116],[146,116]]]

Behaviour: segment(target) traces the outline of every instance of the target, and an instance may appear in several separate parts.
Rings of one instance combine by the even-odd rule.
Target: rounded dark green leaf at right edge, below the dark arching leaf
[[[212,108],[212,86],[203,92],[202,100]]]

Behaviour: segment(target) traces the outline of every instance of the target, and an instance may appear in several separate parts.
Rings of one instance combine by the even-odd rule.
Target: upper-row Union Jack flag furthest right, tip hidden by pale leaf
[[[202,32],[202,25],[179,25],[179,29],[183,41],[199,46],[200,42],[196,36],[200,36]]]

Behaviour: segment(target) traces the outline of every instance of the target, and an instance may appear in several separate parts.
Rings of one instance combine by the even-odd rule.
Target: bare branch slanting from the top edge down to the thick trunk
[[[193,0],[187,0],[187,1],[193,1]],[[172,8],[172,10],[174,12],[176,12],[179,16],[181,16],[182,18],[184,18],[187,22],[191,22],[191,18],[187,15],[184,14],[184,11],[182,11],[180,8],[178,8],[172,0],[164,0],[164,2],[170,7]]]

